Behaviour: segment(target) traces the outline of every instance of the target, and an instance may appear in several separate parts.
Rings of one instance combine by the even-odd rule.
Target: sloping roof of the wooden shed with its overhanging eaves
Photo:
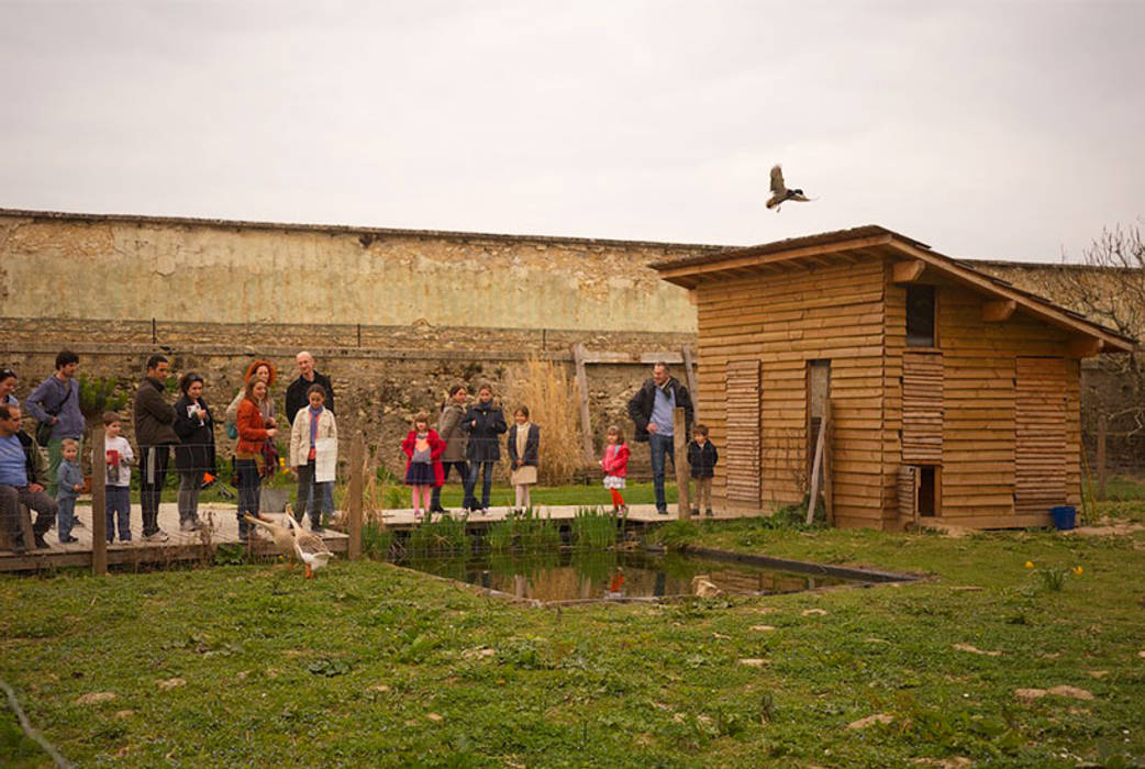
[[[1001,278],[976,270],[964,261],[931,251],[930,246],[919,240],[877,225],[654,262],[649,267],[669,283],[695,288],[717,276],[726,278],[771,273],[782,279],[782,273],[791,270],[855,263],[876,257],[892,262],[892,279],[895,283],[919,280],[926,273],[939,275],[981,294],[990,303],[987,311],[997,316],[995,319],[1004,319],[1014,311],[1021,311],[1061,328],[1073,336],[1071,348],[1076,357],[1099,352],[1132,352],[1137,347],[1137,340],[1130,336],[1093,323],[1048,299],[1017,288]]]

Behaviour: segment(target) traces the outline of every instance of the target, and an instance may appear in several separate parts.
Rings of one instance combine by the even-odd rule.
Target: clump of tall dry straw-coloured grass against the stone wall
[[[529,407],[529,419],[540,426],[540,462],[537,468],[544,485],[572,482],[584,466],[581,450],[581,390],[563,366],[552,360],[529,357],[511,372],[505,420],[513,423],[520,405]]]

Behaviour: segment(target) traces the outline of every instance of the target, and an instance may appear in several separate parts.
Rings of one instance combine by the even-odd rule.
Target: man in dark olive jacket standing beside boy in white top
[[[140,446],[140,506],[143,508],[143,539],[167,541],[159,529],[159,500],[167,477],[171,446],[179,443],[175,434],[175,409],[163,397],[171,363],[161,355],[147,362],[147,376],[135,391],[135,442]]]

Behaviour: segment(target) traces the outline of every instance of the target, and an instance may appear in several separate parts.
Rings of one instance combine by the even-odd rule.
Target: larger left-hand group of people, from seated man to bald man
[[[301,523],[309,508],[310,528],[322,528],[322,515],[333,510],[333,475],[337,463],[338,426],[333,414],[333,388],[327,376],[314,370],[309,352],[297,356],[299,376],[286,390],[286,419],[291,426],[290,461],[298,476],[295,516]],[[74,515],[76,498],[84,490],[78,457],[85,417],[80,409],[77,370],[79,356],[63,351],[56,356],[56,373],[27,397],[27,413],[37,420],[35,439],[22,429],[24,413],[15,396],[18,378],[10,368],[0,370],[0,525],[16,550],[46,548],[53,524],[61,544],[74,542],[72,530],[82,523]],[[147,360],[133,404],[136,457],[121,435],[123,418],[103,414],[105,428],[105,521],[106,539],[131,541],[131,474],[137,466],[142,536],[145,541],[167,541],[159,528],[159,504],[174,449],[179,473],[180,530],[198,531],[199,492],[215,473],[215,418],[203,397],[205,379],[187,372],[179,379],[180,397],[171,403],[165,395],[171,362],[163,355]],[[256,516],[261,483],[278,467],[275,436],[278,423],[269,395],[275,368],[269,360],[255,360],[246,371],[244,387],[227,410],[228,435],[237,438],[235,468],[238,486],[239,537],[254,537],[244,515]],[[47,450],[45,462],[40,446]],[[18,525],[19,506],[35,512],[33,542],[25,542]]]

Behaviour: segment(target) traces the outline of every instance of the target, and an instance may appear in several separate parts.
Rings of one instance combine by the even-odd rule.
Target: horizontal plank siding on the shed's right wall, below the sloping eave
[[[897,486],[901,465],[935,463],[941,468],[937,490],[940,520],[976,528],[1043,525],[1049,522],[1048,510],[1040,508],[1044,507],[1044,500],[1020,509],[1014,507],[1019,467],[1016,362],[1024,357],[1060,360],[1067,355],[1068,340],[1061,331],[1020,312],[1004,322],[984,320],[980,294],[941,279],[934,283],[935,343],[942,360],[940,462],[921,461],[924,458],[911,453],[910,427],[903,422],[903,405],[909,412],[911,394],[903,391],[901,382],[910,367],[909,363],[903,365],[905,356],[909,362],[910,356],[918,354],[906,347],[906,288],[887,283],[883,474],[887,512],[893,509],[895,516],[899,514]],[[1055,386],[1061,404],[1063,435],[1055,438],[1059,459],[1048,460],[1043,455],[1029,462],[1030,467],[1060,462],[1061,473],[1055,477],[1063,478],[1067,504],[1076,504],[1080,496],[1077,364],[1076,359],[1064,360]],[[1041,386],[1049,387],[1045,382]]]

